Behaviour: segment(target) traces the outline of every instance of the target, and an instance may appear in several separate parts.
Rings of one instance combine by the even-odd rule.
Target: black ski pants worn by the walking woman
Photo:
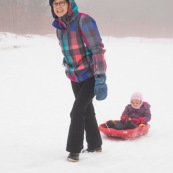
[[[71,82],[71,84],[75,101],[70,113],[71,122],[66,150],[80,153],[83,149],[84,132],[86,132],[87,147],[89,149],[99,148],[102,145],[102,139],[92,103],[95,96],[95,79],[92,77],[81,83]]]

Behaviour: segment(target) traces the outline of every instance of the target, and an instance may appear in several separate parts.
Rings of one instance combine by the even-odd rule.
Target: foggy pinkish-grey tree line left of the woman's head
[[[48,0],[0,0],[0,32],[44,34],[50,16]]]

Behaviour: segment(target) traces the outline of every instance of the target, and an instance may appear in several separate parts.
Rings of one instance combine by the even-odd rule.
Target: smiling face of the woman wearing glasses
[[[67,13],[69,4],[65,0],[54,0],[53,10],[58,17],[64,16]]]

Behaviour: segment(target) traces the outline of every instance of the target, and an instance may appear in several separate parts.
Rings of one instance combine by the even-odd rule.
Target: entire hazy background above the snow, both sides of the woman
[[[76,0],[102,35],[173,37],[173,0]],[[0,32],[54,34],[48,0],[0,0]]]

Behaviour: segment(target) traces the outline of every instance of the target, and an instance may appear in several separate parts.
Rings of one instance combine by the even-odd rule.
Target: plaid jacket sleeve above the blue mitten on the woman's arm
[[[90,16],[82,15],[79,24],[83,40],[92,52],[94,75],[105,74],[107,68],[104,57],[105,49],[96,22]]]

